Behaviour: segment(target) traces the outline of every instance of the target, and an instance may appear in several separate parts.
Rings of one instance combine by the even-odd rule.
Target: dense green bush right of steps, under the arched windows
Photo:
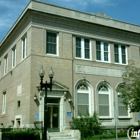
[[[80,115],[79,118],[72,118],[70,126],[71,129],[79,129],[82,137],[101,134],[103,131],[97,113],[95,112],[92,116],[87,114],[85,116]]]

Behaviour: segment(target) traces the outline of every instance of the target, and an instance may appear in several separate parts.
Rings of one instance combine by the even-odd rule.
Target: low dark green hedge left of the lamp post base
[[[35,130],[16,130],[2,133],[2,140],[40,140],[40,134]]]

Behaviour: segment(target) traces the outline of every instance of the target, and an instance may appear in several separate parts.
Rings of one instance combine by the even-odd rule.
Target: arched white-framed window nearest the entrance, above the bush
[[[79,115],[86,115],[89,113],[89,87],[85,83],[80,83],[77,86],[77,106],[76,113]]]

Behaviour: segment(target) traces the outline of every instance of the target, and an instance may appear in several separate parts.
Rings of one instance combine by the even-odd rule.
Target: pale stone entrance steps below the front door
[[[50,132],[48,133],[48,140],[80,140],[80,132],[78,130]]]

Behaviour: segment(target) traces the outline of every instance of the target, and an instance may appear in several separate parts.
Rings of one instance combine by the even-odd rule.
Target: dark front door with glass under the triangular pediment
[[[59,131],[59,98],[48,98],[47,127],[49,132]]]

